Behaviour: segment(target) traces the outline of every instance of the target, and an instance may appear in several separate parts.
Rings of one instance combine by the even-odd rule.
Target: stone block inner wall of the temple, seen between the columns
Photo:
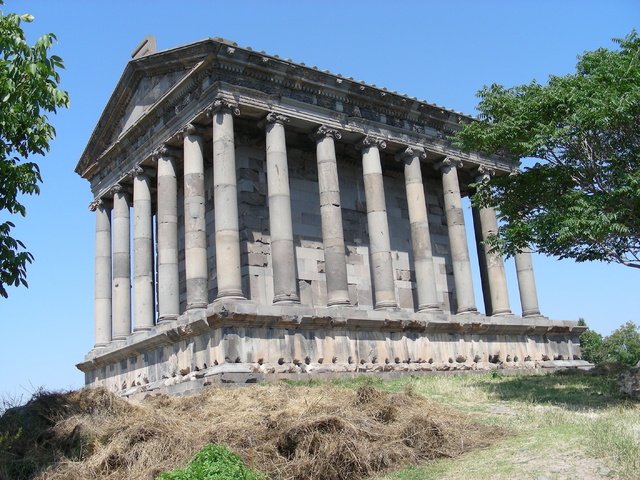
[[[302,305],[325,306],[326,281],[315,152],[289,148],[288,161],[300,301]],[[349,296],[354,306],[370,309],[373,308],[373,289],[369,264],[364,182],[360,166],[353,161],[341,162],[339,158],[339,168],[344,236],[347,246]],[[384,163],[383,170],[385,170]],[[391,232],[396,299],[400,308],[414,310],[417,300],[404,178],[400,170],[388,170],[384,172],[384,184]],[[273,300],[274,289],[264,145],[237,146],[236,171],[243,291],[248,299],[269,305]],[[206,160],[205,185],[209,302],[213,302],[217,294],[213,172],[210,163]],[[178,190],[180,301],[181,311],[184,311],[186,292],[182,185],[179,185]],[[437,178],[425,179],[425,193],[437,291],[443,309],[448,311],[452,307],[455,308],[455,295],[451,260],[447,253],[449,241],[442,205],[442,187]]]

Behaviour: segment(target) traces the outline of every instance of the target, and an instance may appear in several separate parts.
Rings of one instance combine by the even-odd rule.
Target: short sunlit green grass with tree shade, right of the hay
[[[515,435],[378,479],[640,478],[640,405],[620,398],[613,376],[421,376],[382,387],[410,388]]]

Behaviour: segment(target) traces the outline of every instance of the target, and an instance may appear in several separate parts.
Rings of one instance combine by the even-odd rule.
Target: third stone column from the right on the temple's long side
[[[464,225],[462,199],[460,198],[460,185],[458,183],[457,169],[462,167],[462,162],[453,158],[446,158],[436,167],[442,171],[444,208],[447,217],[449,246],[451,247],[451,261],[453,263],[453,280],[458,303],[456,313],[476,312],[469,247],[467,246],[467,232]]]

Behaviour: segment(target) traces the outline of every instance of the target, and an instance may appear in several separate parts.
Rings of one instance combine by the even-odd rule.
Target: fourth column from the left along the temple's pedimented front
[[[158,162],[158,321],[170,321],[180,313],[178,271],[178,181],[176,152],[163,147]],[[204,178],[204,177],[203,177]]]

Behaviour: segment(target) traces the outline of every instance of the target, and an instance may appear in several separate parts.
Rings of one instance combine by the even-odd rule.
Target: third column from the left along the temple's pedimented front
[[[149,330],[155,321],[153,281],[153,217],[151,180],[142,167],[133,178],[133,298],[134,331]]]

